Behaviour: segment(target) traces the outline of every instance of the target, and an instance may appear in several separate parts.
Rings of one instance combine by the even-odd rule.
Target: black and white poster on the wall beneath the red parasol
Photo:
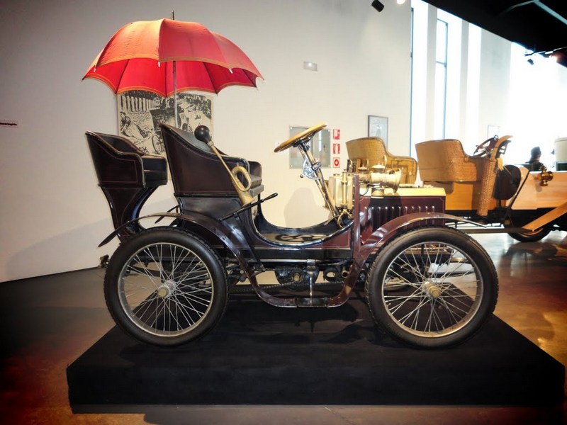
[[[176,125],[193,132],[198,125],[213,131],[213,96],[204,94],[177,94],[177,123],[173,97],[162,98],[150,91],[125,91],[118,100],[118,135],[128,138],[148,154],[165,157],[164,142],[159,123]]]

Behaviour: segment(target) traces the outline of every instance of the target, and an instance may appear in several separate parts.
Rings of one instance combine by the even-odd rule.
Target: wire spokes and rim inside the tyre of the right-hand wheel
[[[444,242],[420,242],[394,257],[382,300],[395,324],[417,336],[442,336],[467,324],[481,299],[478,268]]]

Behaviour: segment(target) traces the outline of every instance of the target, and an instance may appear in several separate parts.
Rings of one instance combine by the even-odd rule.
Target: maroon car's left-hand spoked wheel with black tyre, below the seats
[[[224,268],[203,240],[179,229],[147,229],[108,263],[106,305],[116,324],[149,344],[174,346],[206,334],[225,312]]]

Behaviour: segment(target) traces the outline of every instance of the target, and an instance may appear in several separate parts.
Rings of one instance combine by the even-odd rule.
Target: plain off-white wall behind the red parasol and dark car
[[[6,4],[7,3],[7,4]],[[366,135],[367,115],[389,117],[389,147],[409,152],[410,6],[383,0],[99,0],[4,2],[0,8],[0,281],[96,266],[112,224],[84,138],[117,131],[116,100],[81,81],[125,23],[197,21],[230,38],[266,81],[231,87],[213,103],[215,143],[264,165],[266,215],[278,225],[325,217],[311,181],[274,154],[289,125],[326,120],[341,142]],[[318,72],[303,70],[303,61]],[[346,162],[346,149],[342,160]],[[329,174],[330,170],[325,170]],[[159,188],[145,212],[173,205]]]

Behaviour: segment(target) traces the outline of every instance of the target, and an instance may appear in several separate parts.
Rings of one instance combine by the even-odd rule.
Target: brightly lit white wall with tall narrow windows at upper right
[[[412,0],[412,6],[418,28],[412,74],[412,144],[441,137],[432,125],[435,26],[440,18],[449,22],[449,38],[451,26],[461,33],[460,49],[455,46],[451,52],[449,40],[445,137],[461,140],[465,151],[472,154],[476,145],[495,135],[493,131],[512,135],[505,162],[526,162],[530,149],[539,146],[542,162],[552,166],[554,142],[567,136],[567,68],[539,55],[529,65],[522,47],[468,23],[457,25],[454,18],[424,1]],[[456,74],[454,81],[451,72]]]

